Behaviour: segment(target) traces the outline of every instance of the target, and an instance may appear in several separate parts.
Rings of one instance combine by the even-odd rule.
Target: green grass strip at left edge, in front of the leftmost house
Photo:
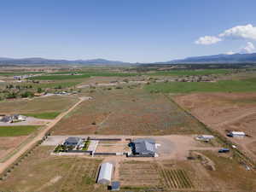
[[[26,136],[37,130],[38,127],[33,125],[0,126],[0,137]]]

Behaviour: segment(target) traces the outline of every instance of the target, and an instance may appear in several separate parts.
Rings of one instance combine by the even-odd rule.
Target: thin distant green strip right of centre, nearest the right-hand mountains
[[[184,75],[210,75],[230,73],[228,69],[203,69],[203,70],[172,70],[168,72],[149,73],[155,76],[184,76]]]

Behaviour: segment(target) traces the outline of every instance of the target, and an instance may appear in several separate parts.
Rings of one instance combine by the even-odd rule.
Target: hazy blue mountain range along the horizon
[[[182,60],[154,62],[154,64],[192,64],[192,63],[256,63],[256,53],[233,55],[207,55],[188,57]],[[94,60],[51,60],[40,57],[12,59],[0,57],[0,65],[139,65],[143,63],[130,63],[123,61]],[[148,63],[147,63],[148,64]]]

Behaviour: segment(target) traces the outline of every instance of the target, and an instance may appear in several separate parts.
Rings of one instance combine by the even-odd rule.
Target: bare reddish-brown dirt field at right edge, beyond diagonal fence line
[[[256,94],[211,93],[176,96],[175,101],[202,122],[226,135],[245,131],[250,137],[230,138],[256,160]]]

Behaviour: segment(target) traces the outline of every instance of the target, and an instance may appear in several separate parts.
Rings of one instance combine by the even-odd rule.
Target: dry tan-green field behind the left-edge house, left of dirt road
[[[70,108],[78,99],[73,96],[48,96],[41,98],[1,102],[0,113],[53,113]]]

